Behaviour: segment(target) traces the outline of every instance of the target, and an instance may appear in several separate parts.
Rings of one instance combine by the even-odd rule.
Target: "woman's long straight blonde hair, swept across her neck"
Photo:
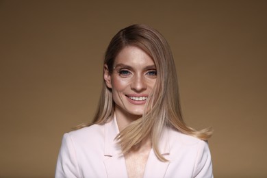
[[[212,136],[212,129],[197,131],[184,123],[179,102],[177,73],[173,54],[168,42],[155,29],[147,25],[131,25],[118,31],[112,38],[105,52],[104,64],[110,73],[116,55],[127,46],[135,46],[151,56],[157,68],[157,80],[147,99],[146,109],[141,118],[125,127],[118,136],[123,153],[138,145],[145,138],[151,138],[151,143],[157,158],[167,161],[158,149],[162,129],[165,126],[173,127],[181,133],[207,140]],[[97,112],[92,124],[103,124],[114,117],[114,101],[112,91],[107,88],[103,80],[103,88]]]

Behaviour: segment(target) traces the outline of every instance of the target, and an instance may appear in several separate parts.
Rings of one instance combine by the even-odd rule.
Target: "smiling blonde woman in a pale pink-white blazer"
[[[64,134],[55,177],[213,177],[211,135],[183,122],[164,37],[131,25],[107,47],[97,114]]]

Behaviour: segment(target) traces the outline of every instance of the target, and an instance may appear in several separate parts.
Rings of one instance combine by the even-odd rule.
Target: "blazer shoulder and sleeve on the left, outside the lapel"
[[[55,177],[100,177],[94,170],[104,170],[104,140],[104,125],[64,133]]]

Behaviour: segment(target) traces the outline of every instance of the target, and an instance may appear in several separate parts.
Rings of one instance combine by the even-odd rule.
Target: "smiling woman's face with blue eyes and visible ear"
[[[138,47],[125,47],[114,60],[113,73],[105,66],[105,82],[112,89],[116,112],[142,116],[157,79],[155,63]]]

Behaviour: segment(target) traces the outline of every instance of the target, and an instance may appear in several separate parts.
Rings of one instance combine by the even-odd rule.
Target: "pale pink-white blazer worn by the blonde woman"
[[[125,158],[114,140],[117,134],[116,118],[65,133],[55,177],[127,177]],[[144,177],[213,177],[207,142],[167,128],[159,149],[168,162],[160,162],[151,149]]]

